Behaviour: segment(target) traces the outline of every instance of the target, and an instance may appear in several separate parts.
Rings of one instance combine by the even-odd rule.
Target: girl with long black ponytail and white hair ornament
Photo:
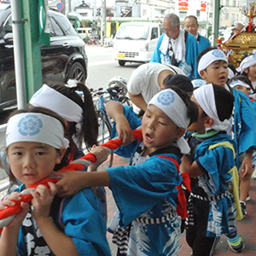
[[[78,91],[83,94],[79,96]],[[69,160],[77,160],[84,156],[80,149],[82,143],[86,148],[97,145],[98,122],[90,90],[75,80],[65,84],[44,84],[30,100],[34,107],[49,108],[67,120],[67,130],[70,143]],[[85,169],[86,170],[86,169]],[[89,167],[90,170],[90,167]],[[96,196],[101,201],[101,213],[107,222],[106,191],[96,188]]]

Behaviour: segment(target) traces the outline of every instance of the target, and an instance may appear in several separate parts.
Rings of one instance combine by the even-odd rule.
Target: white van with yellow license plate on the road
[[[154,22],[123,22],[113,38],[113,59],[125,62],[148,62],[154,52],[162,25]]]

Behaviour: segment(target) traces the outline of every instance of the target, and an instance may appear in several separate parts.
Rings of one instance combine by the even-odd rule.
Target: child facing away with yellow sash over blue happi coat
[[[192,100],[199,117],[187,129],[193,131],[188,135],[191,154],[183,156],[181,165],[181,172],[189,172],[192,189],[186,240],[193,256],[211,256],[219,237],[236,227],[236,204],[230,192],[236,143],[225,132],[234,96],[224,87],[207,84],[194,91]],[[238,194],[236,199],[239,205]]]

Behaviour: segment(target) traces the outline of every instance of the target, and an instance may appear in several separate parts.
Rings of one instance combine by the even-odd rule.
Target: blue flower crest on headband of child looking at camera
[[[18,123],[18,131],[22,136],[34,136],[38,134],[43,127],[43,122],[35,114],[28,114],[26,117],[20,119]]]

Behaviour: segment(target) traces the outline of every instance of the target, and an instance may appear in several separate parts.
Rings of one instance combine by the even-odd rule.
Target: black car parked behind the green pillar
[[[87,77],[84,41],[65,15],[49,10],[50,45],[41,46],[43,82]],[[10,5],[0,9],[0,113],[15,108],[15,62]]]

